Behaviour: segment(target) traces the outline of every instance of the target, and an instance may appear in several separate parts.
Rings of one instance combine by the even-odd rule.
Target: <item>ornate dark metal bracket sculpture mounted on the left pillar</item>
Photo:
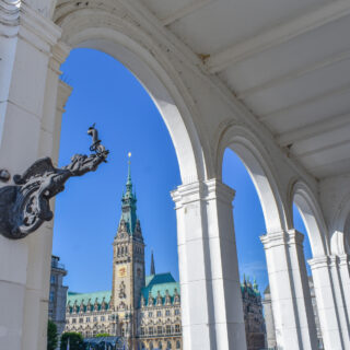
[[[0,234],[11,240],[23,238],[52,219],[49,200],[65,189],[72,176],[94,172],[109,153],[97,137],[94,125],[89,128],[92,154],[74,154],[70,164],[56,168],[49,158],[32,164],[23,175],[14,175],[15,185],[0,188]]]

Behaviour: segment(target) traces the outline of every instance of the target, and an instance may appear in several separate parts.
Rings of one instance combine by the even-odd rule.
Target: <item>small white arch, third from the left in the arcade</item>
[[[298,207],[304,221],[313,257],[326,255],[329,250],[326,240],[327,226],[322,210],[310,187],[301,180],[293,183],[291,186],[291,212],[293,202]]]

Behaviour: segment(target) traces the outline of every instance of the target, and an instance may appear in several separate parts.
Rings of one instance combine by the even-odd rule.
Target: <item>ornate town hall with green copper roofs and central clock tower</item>
[[[180,288],[173,276],[155,273],[152,253],[145,276],[144,241],[137,218],[130,167],[121,217],[113,243],[112,291],[68,292],[66,331],[83,337],[97,334],[122,336],[130,349],[183,349]],[[262,304],[256,282],[241,285],[249,350],[265,346]]]

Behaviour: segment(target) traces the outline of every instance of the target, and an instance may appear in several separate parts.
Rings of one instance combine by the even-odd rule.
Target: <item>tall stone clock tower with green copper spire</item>
[[[130,153],[129,153],[130,158]],[[137,313],[144,287],[144,243],[137,218],[137,198],[132,191],[130,161],[126,191],[121,197],[121,217],[114,238],[113,287],[110,307],[116,315],[117,334],[129,339],[135,349]]]

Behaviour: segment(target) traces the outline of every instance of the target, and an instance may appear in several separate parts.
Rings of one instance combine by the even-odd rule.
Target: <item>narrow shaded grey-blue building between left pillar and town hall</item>
[[[63,277],[67,275],[65,265],[59,262],[59,257],[51,256],[51,276],[48,303],[48,318],[57,326],[60,335],[66,325],[66,303],[68,287],[63,285]]]

